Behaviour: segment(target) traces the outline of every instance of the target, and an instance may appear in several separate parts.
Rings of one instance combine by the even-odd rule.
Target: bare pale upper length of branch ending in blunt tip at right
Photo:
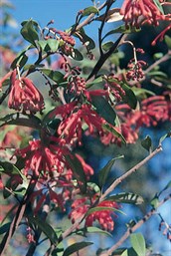
[[[149,161],[154,155],[156,155],[158,152],[162,150],[161,145],[159,145],[154,151],[152,151],[147,157],[145,157],[142,161],[137,163],[135,166],[133,166],[131,169],[126,171],[122,176],[116,178],[114,182],[105,190],[105,192],[100,196],[99,202],[101,202],[106,195],[108,195],[110,192],[113,191],[113,189],[120,183],[122,182],[126,177],[131,175],[133,172],[137,171],[142,165],[144,165],[147,161]]]

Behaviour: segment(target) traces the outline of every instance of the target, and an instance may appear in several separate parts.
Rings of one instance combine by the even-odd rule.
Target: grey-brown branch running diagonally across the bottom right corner
[[[158,203],[157,208],[170,199],[171,199],[171,194],[169,194],[163,200],[161,200]],[[108,249],[105,252],[102,252],[100,256],[110,256],[112,252],[114,252],[118,247],[120,247],[120,245],[122,245],[122,243],[130,236],[131,233],[133,233],[136,229],[142,226],[143,223],[146,222],[151,216],[156,214],[157,208],[152,208],[150,211],[148,211],[142,219],[140,219],[132,228],[128,228],[126,232],[123,234],[123,236],[110,249]]]

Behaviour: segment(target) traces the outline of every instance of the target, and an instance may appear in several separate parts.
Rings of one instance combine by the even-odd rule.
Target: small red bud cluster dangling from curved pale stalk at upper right
[[[142,67],[146,66],[146,62],[144,61],[135,61],[135,59],[131,59],[127,65],[127,68],[129,69],[126,73],[126,79],[128,81],[139,81],[143,79],[144,72],[142,70]]]

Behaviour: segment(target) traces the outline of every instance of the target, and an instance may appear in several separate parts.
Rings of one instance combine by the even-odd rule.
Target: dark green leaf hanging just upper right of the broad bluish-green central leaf
[[[120,86],[122,87],[122,89],[126,94],[125,96],[122,97],[124,103],[128,104],[131,109],[135,110],[137,105],[137,99],[133,91],[124,83],[121,83]]]

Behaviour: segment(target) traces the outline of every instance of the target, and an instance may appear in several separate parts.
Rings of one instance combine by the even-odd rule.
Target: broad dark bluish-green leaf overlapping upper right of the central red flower
[[[115,125],[116,114],[114,110],[111,108],[109,103],[103,98],[99,96],[91,96],[92,105],[96,109],[96,113],[102,117],[106,122]]]

